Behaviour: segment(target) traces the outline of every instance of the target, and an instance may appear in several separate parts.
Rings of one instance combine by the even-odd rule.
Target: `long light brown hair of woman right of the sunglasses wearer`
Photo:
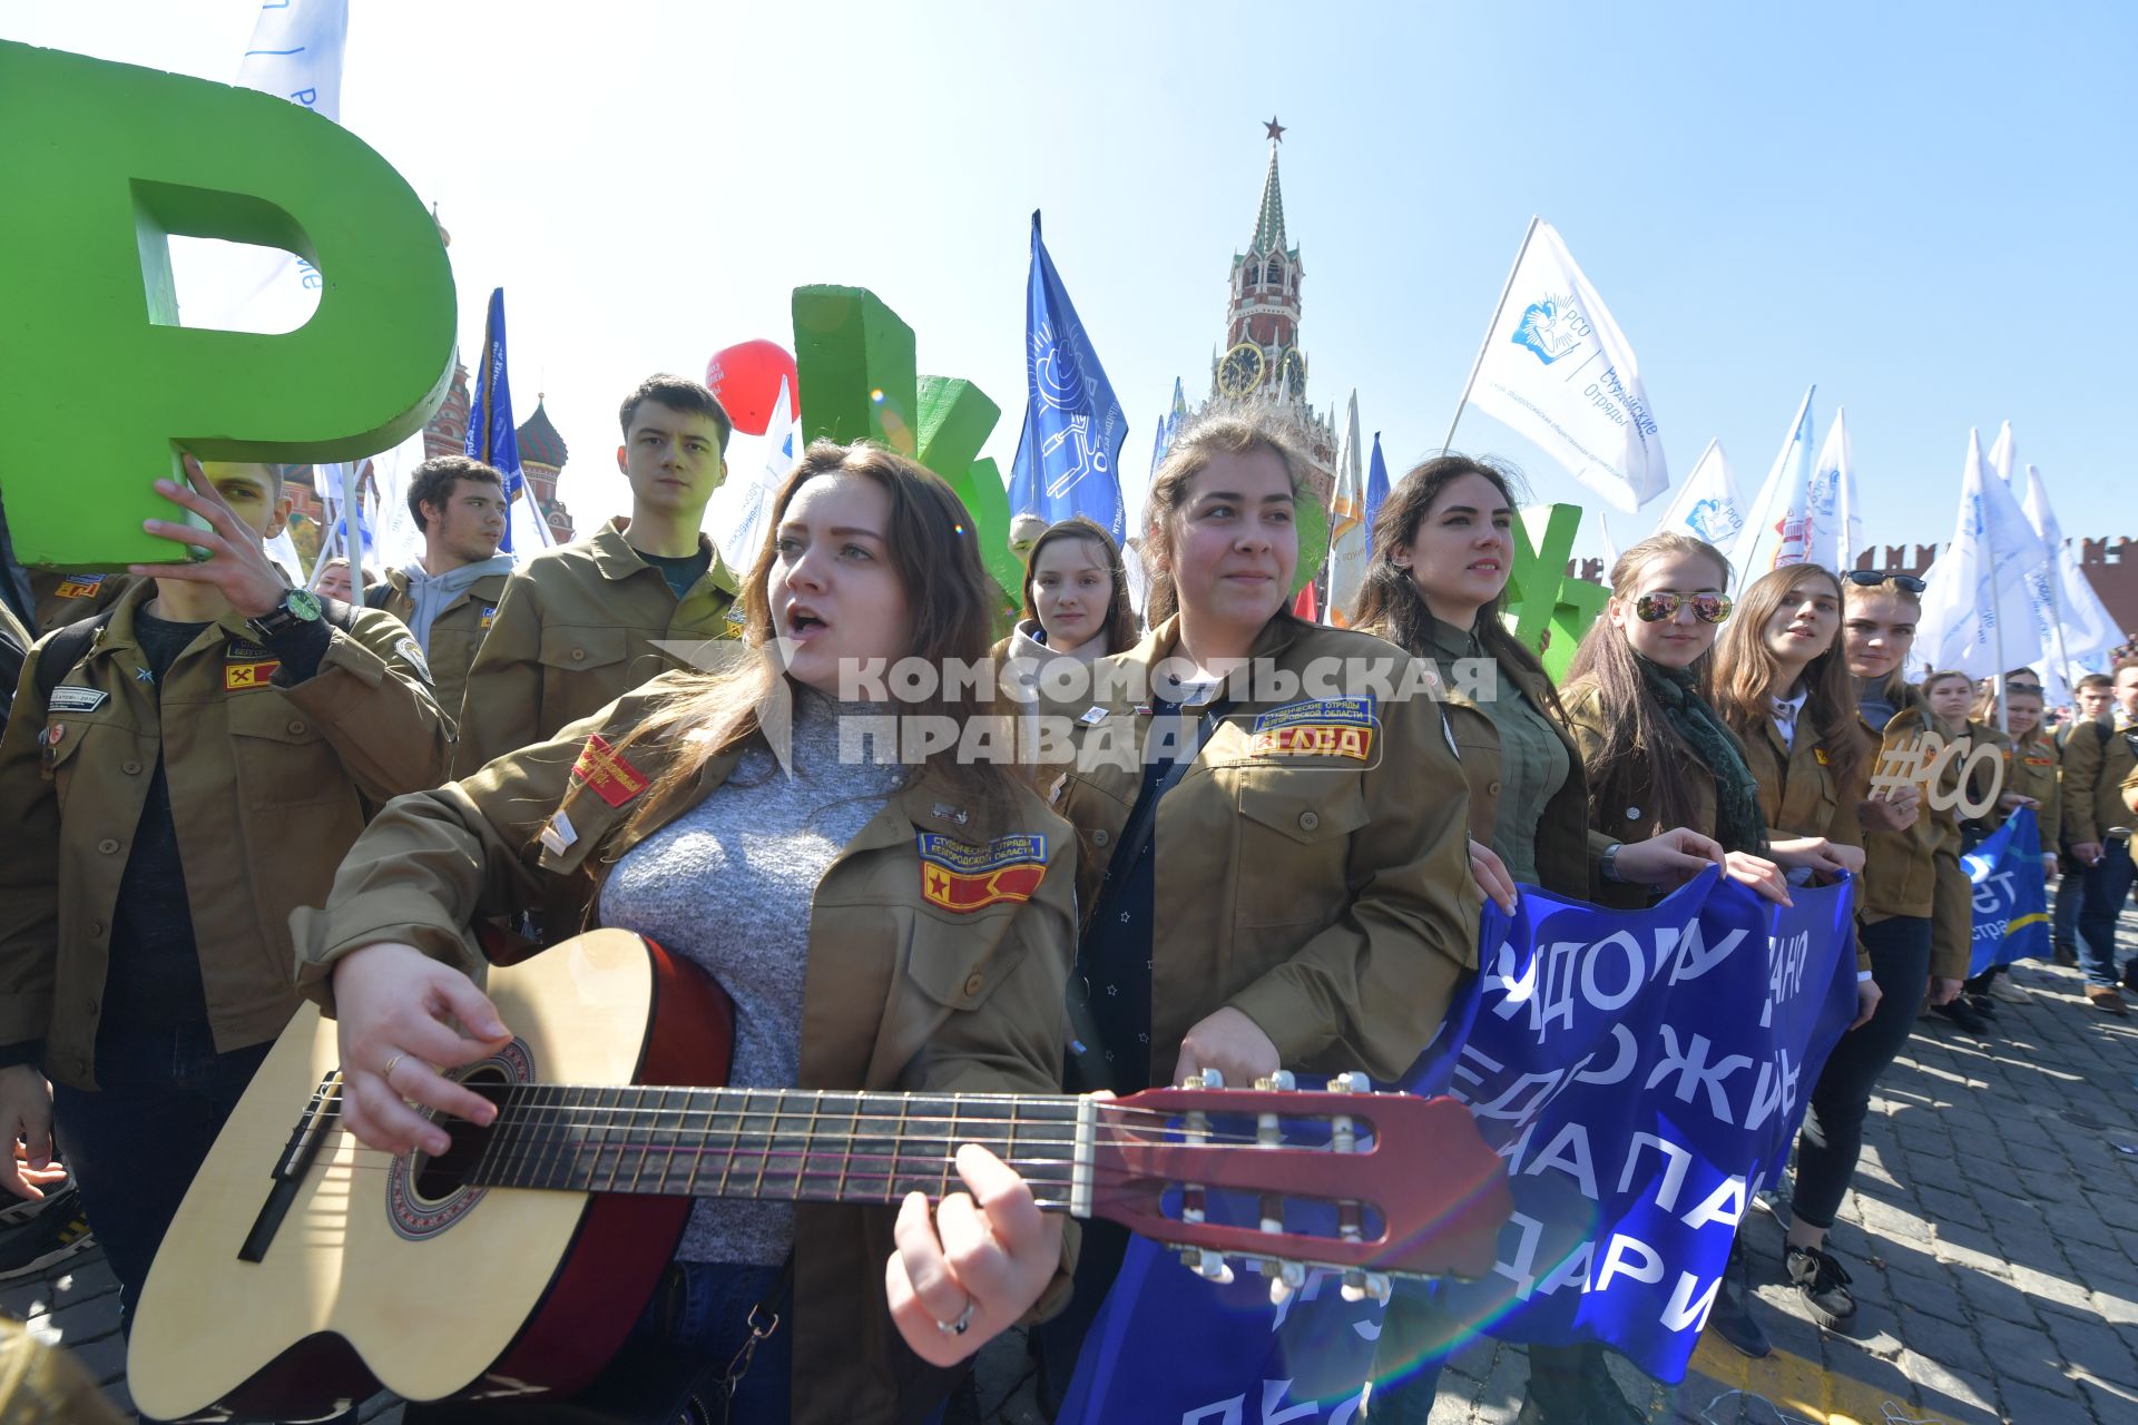
[[[1766,645],[1766,624],[1792,602],[1796,585],[1811,577],[1834,585],[1837,613],[1834,641],[1804,664],[1804,716],[1807,726],[1819,737],[1834,784],[1847,786],[1864,763],[1864,741],[1856,733],[1856,682],[1841,652],[1839,611],[1847,607],[1847,598],[1834,570],[1819,564],[1783,564],[1751,581],[1715,643],[1715,711],[1745,743],[1766,735],[1772,718],[1768,699],[1787,692],[1779,688],[1781,662]]]

